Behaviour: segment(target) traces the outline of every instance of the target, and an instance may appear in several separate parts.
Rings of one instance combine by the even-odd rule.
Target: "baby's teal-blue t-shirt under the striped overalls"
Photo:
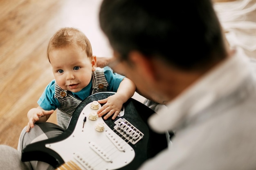
[[[123,75],[113,73],[112,69],[108,66],[104,67],[104,74],[108,82],[107,91],[117,92],[119,84],[124,79]],[[86,97],[90,96],[92,93],[92,79],[88,86],[83,88],[81,91],[73,93],[70,92],[74,97],[84,100]],[[58,100],[54,97],[55,95],[55,79],[52,80],[45,88],[43,94],[38,99],[38,105],[44,110],[56,110],[60,107]]]

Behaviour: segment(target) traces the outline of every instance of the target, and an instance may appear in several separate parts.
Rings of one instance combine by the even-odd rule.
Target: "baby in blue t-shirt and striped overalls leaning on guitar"
[[[26,131],[35,122],[47,121],[57,110],[58,125],[66,129],[76,107],[86,97],[102,91],[116,92],[98,102],[104,104],[99,117],[115,119],[122,105],[135,93],[135,84],[128,78],[113,73],[108,66],[97,67],[97,57],[92,55],[88,38],[78,29],[59,29],[50,39],[47,57],[52,65],[54,80],[38,100],[38,107],[27,113]]]

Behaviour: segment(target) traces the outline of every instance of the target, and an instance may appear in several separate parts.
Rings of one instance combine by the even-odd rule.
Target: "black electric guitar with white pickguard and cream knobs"
[[[135,99],[124,104],[115,120],[95,116],[101,105],[94,108],[94,101],[113,94],[96,93],[83,100],[67,130],[26,146],[22,161],[44,161],[59,170],[135,170],[166,148],[166,135],[153,132],[147,124],[154,111]]]

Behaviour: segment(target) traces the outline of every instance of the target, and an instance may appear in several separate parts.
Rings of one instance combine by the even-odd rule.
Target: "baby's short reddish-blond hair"
[[[72,27],[64,27],[59,29],[50,39],[47,47],[47,57],[53,49],[63,48],[65,46],[78,45],[81,46],[88,57],[92,57],[92,46],[89,39],[83,32]]]

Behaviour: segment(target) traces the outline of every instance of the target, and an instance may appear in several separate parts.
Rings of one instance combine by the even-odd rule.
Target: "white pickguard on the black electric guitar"
[[[82,170],[115,170],[128,165],[134,159],[135,151],[101,117],[89,119],[92,111],[99,110],[93,110],[91,104],[83,108],[72,135],[45,147],[57,152],[65,162],[74,161]],[[95,130],[99,123],[104,126],[103,132]]]

